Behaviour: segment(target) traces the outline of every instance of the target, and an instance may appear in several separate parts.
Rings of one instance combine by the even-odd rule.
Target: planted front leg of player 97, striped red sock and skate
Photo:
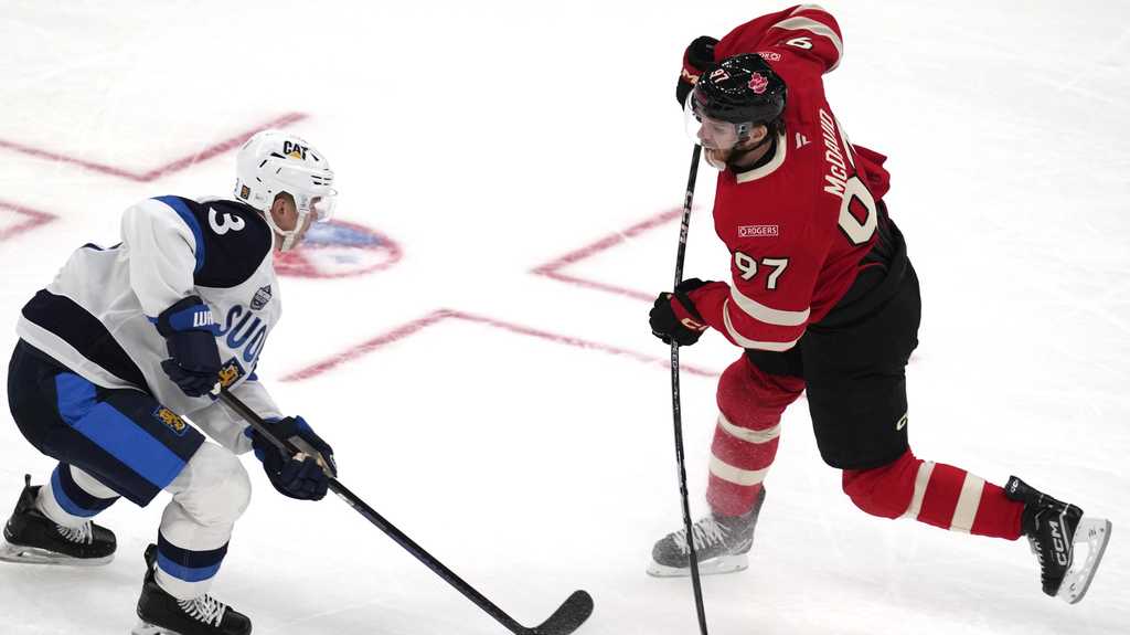
[[[799,354],[742,355],[719,380],[719,419],[706,490],[711,513],[692,528],[703,574],[748,566],[746,554],[765,501],[763,481],[776,456],[781,414],[805,386],[790,372],[799,375]],[[689,575],[689,559],[686,530],[675,531],[655,543],[647,573]]]

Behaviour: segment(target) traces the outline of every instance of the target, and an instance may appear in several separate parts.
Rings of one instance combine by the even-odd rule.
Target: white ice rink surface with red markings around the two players
[[[1083,603],[1045,598],[1023,542],[859,512],[798,403],[750,569],[704,580],[711,633],[1130,633],[1130,6],[825,6],[845,45],[829,99],[889,155],[922,279],[915,453],[1016,473],[1114,538]],[[681,521],[643,298],[673,267],[683,47],[785,5],[0,7],[3,350],[71,250],[116,243],[139,199],[228,193],[234,143],[284,124],[330,157],[339,219],[370,230],[284,280],[259,371],[341,480],[522,623],[584,588],[581,634],[697,633],[689,581],[644,575]],[[704,167],[688,277],[725,273],[712,190]],[[696,516],[737,354],[716,333],[683,353]],[[52,462],[3,412],[6,515]],[[244,461],[255,496],[214,593],[257,634],[504,632],[339,501],[286,499]],[[106,567],[0,566],[0,633],[128,633],[163,501],[99,516],[119,539]]]

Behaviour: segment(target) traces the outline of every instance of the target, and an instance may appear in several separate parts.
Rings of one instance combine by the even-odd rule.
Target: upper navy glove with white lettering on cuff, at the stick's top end
[[[169,359],[160,363],[168,379],[189,397],[210,391],[219,381],[219,330],[200,296],[189,296],[163,311],[157,332],[168,347]]]

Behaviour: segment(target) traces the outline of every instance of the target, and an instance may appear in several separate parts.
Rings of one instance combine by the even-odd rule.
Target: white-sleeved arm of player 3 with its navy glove
[[[122,215],[122,245],[130,256],[130,286],[141,310],[165,338],[162,369],[189,397],[216,384],[220,368],[211,310],[195,295],[205,240],[192,201],[162,197]]]

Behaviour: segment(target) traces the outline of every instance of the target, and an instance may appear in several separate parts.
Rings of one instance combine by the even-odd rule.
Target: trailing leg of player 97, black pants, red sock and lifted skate
[[[808,342],[808,401],[822,455],[844,470],[844,493],[869,514],[1008,540],[1027,536],[1044,592],[1078,601],[1102,558],[1109,521],[1084,520],[1078,507],[1015,477],[1000,487],[911,452],[905,364],[920,306],[907,263],[899,290],[880,311]],[[1075,542],[1087,545],[1086,555],[1076,558]]]

